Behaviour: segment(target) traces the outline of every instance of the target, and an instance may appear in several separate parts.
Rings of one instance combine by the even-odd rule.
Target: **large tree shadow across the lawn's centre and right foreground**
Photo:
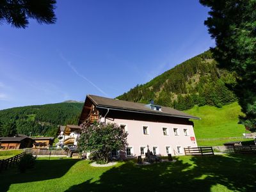
[[[183,160],[182,160],[183,159]],[[67,191],[255,191],[253,155],[177,157],[174,163],[136,166],[128,161],[104,172],[100,179],[70,187]]]

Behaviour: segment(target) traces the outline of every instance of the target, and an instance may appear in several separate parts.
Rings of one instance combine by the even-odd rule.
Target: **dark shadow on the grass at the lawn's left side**
[[[20,173],[17,167],[0,173],[0,191],[8,191],[11,184],[60,178],[77,163],[79,159],[36,160],[35,168]]]

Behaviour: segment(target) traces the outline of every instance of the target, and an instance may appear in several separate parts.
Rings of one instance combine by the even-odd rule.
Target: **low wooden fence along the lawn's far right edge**
[[[256,145],[214,146],[214,151],[236,154],[256,154]]]

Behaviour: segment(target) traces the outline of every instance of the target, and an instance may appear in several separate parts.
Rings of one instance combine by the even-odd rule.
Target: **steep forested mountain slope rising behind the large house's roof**
[[[235,82],[234,74],[217,68],[210,51],[205,51],[145,84],[117,97],[133,102],[154,99],[156,104],[179,110],[193,106],[216,106],[236,101],[236,96],[225,84]]]

